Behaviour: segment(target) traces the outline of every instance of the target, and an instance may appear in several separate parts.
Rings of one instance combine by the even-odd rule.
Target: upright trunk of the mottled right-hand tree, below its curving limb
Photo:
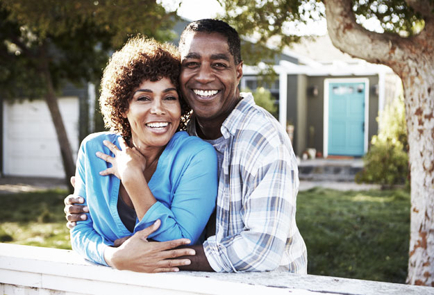
[[[434,287],[434,53],[401,77],[410,146],[411,221],[407,283]]]

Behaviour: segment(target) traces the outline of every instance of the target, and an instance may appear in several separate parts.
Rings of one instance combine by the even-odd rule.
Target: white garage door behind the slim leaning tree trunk
[[[74,160],[78,151],[78,98],[58,99]],[[63,178],[53,121],[42,100],[3,104],[3,173]]]

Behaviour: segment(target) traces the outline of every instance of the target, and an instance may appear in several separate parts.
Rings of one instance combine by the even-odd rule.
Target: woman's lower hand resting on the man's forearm
[[[190,264],[190,259],[176,259],[180,256],[194,255],[191,248],[174,249],[190,244],[188,239],[175,239],[168,242],[148,242],[147,237],[158,229],[160,220],[149,228],[140,230],[126,239],[119,248],[108,247],[104,259],[110,267],[128,269],[145,273],[179,271],[178,266]]]

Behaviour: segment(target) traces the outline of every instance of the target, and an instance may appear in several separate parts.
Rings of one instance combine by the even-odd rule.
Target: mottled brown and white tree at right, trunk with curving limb
[[[411,173],[407,283],[434,286],[434,14],[433,4],[422,1],[408,0],[416,11],[424,9],[425,28],[412,37],[362,28],[351,0],[324,0],[324,4],[335,47],[391,67],[403,82]]]

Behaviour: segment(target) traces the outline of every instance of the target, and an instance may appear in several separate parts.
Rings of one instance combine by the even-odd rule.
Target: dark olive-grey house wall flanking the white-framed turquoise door
[[[307,133],[309,128],[313,127],[315,134],[313,136],[312,147],[317,151],[324,151],[324,80],[326,78],[368,78],[369,80],[369,121],[368,121],[368,143],[371,142],[373,135],[378,133],[378,95],[374,92],[374,85],[378,85],[378,76],[310,76],[306,85],[307,92]],[[310,89],[317,87],[318,94],[315,96]],[[308,142],[309,144],[309,142]],[[310,146],[309,146],[310,147]]]

